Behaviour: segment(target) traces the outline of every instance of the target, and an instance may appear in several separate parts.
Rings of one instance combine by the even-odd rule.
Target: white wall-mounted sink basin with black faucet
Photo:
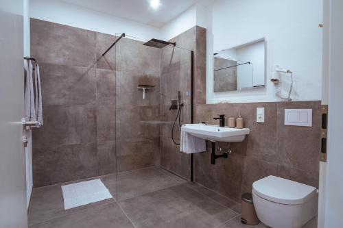
[[[217,125],[182,125],[181,131],[185,131],[198,138],[217,142],[241,142],[249,134],[250,129],[219,127]]]

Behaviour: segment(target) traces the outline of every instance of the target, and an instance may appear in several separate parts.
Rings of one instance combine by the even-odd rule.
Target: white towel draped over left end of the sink
[[[180,151],[185,153],[204,152],[206,151],[206,140],[181,131]]]

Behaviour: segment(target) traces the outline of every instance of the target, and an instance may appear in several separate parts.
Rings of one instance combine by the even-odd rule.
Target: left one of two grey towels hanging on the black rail
[[[26,121],[36,121],[36,110],[34,105],[34,82],[32,78],[33,66],[31,61],[24,60],[25,74],[25,119]]]

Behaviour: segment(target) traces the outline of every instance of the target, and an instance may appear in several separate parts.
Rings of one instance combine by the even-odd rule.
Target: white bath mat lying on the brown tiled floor
[[[113,198],[100,179],[62,186],[64,210]]]

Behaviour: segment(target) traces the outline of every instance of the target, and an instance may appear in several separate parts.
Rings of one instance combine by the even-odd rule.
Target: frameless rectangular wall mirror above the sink
[[[214,92],[265,86],[265,39],[213,54]]]

